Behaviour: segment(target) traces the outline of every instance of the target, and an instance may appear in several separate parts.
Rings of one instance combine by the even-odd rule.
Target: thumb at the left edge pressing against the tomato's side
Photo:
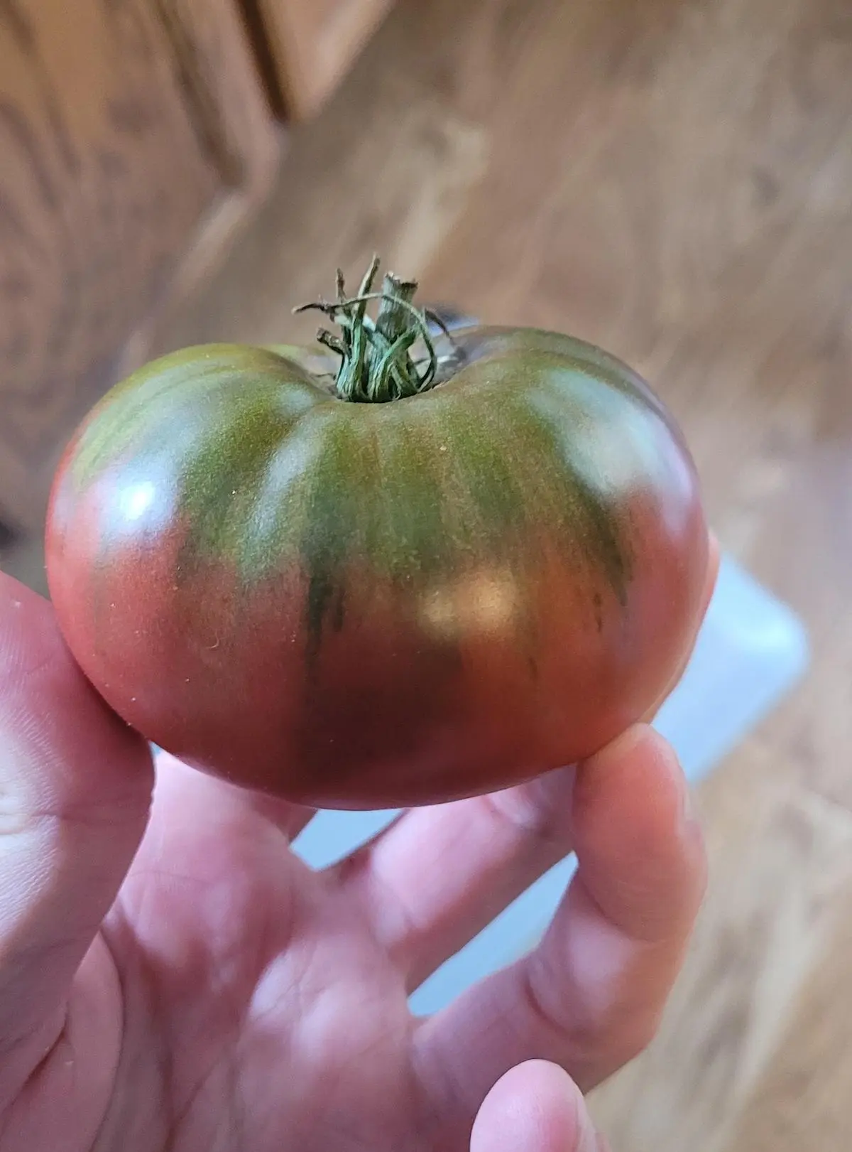
[[[0,573],[0,1091],[61,1029],[152,787],[147,744],[79,672],[51,605]]]

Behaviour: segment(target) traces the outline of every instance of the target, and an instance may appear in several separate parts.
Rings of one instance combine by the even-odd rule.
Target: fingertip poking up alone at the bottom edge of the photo
[[[473,1124],[471,1152],[606,1152],[571,1077],[530,1060],[502,1076]]]

